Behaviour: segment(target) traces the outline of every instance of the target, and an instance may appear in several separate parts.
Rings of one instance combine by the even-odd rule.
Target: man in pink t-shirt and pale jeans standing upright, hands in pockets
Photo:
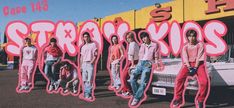
[[[82,70],[83,95],[87,100],[93,100],[94,65],[98,56],[97,45],[91,41],[88,32],[83,33],[84,45],[81,47],[80,66]]]

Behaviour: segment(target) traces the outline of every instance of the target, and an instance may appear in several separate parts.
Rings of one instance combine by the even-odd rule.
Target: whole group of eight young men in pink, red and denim
[[[197,107],[203,108],[209,94],[205,49],[203,43],[197,40],[195,30],[188,30],[186,37],[188,43],[183,46],[181,52],[183,65],[175,80],[174,99],[170,106],[177,108],[184,104],[183,92],[186,88],[184,87],[186,79],[196,76],[199,90],[195,102]],[[61,90],[62,93],[70,91],[77,94],[81,85],[80,97],[87,101],[95,100],[96,65],[101,52],[98,52],[98,45],[91,38],[89,32],[82,34],[84,43],[80,47],[78,66],[69,60],[64,60],[56,39],[50,39],[50,44],[43,50],[43,59],[39,62],[44,64],[43,71],[48,79],[48,92]],[[123,45],[117,35],[111,37],[107,62],[111,83],[108,88],[114,90],[118,96],[129,98],[130,107],[138,107],[147,98],[146,91],[152,80],[152,72],[162,70],[164,65],[160,46],[151,40],[148,32],[139,32],[139,39],[134,32],[127,32],[125,42],[127,45]],[[33,88],[33,73],[39,56],[30,38],[25,38],[25,46],[21,52],[18,92]],[[58,78],[57,71],[59,71]]]

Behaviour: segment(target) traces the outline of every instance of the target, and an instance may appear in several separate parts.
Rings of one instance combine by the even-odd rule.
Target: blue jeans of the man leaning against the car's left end
[[[149,79],[151,75],[152,63],[148,60],[141,60],[137,64],[136,68],[132,70],[130,75],[130,84],[133,91],[133,96],[135,99],[140,100],[146,92],[145,88],[149,84]],[[141,76],[140,84],[137,83],[138,78]]]

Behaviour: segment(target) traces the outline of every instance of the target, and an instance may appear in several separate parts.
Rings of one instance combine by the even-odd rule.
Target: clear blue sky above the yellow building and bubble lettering
[[[40,3],[43,6],[44,0],[0,0],[0,43],[3,40],[3,33],[6,25],[14,20],[22,20],[27,24],[37,20],[58,20],[73,21],[74,23],[88,19],[103,18],[112,14],[141,9],[164,3],[171,0],[47,0],[48,10],[32,12],[32,4]],[[9,10],[17,7],[26,7],[26,13],[4,16],[4,7]]]

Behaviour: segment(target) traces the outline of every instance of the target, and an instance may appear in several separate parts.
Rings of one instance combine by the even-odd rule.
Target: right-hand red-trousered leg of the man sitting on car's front
[[[205,71],[205,65],[202,64],[198,67],[197,70],[197,77],[199,82],[199,92],[198,92],[198,102],[204,102],[205,98],[207,97],[208,93],[208,87],[210,87],[208,84],[209,78],[207,76],[207,72]]]

